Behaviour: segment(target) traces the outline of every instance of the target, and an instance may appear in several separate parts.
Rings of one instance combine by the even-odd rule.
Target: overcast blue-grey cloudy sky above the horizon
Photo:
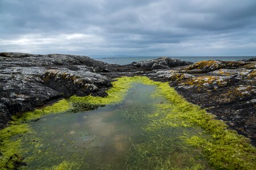
[[[256,56],[255,0],[0,0],[0,52]]]

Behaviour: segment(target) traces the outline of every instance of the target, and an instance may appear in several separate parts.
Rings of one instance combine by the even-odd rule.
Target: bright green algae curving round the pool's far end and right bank
[[[131,78],[122,77],[117,82],[114,82],[112,91],[108,91],[109,97],[73,96],[71,100],[84,100],[91,104],[120,102],[125,96],[127,88],[134,82],[157,86],[156,95],[164,96],[168,101],[165,104],[156,105],[158,110],[154,114],[151,114],[151,117],[155,117],[155,120],[146,127],[146,130],[155,131],[163,126],[186,128],[199,126],[204,130],[203,133],[209,134],[208,139],[197,136],[188,138],[186,135],[181,137],[181,139],[183,138],[188,145],[200,148],[213,167],[220,169],[256,168],[256,150],[255,147],[250,145],[249,139],[238,135],[234,130],[228,130],[225,122],[216,120],[213,114],[207,113],[207,111],[201,109],[198,105],[189,103],[177,94],[174,88],[171,88],[168,83],[154,82],[146,77],[139,76]],[[114,95],[112,95],[112,92]],[[164,110],[167,111],[166,114],[163,114]],[[156,120],[156,117],[160,118]],[[157,144],[155,147],[158,147]]]

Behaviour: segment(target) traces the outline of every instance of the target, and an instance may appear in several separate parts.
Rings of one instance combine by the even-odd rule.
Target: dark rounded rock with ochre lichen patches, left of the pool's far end
[[[47,87],[65,97],[86,96],[111,86],[110,79],[90,71],[47,70],[41,78]]]

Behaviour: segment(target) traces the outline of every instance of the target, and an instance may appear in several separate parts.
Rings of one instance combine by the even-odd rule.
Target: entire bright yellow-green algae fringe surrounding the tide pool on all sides
[[[154,82],[141,76],[119,78],[112,83],[113,88],[107,91],[109,94],[107,97],[72,96],[68,100],[53,104],[54,107],[52,105],[27,112],[22,117],[14,117],[14,125],[0,131],[1,152],[3,154],[0,158],[0,166],[4,167],[6,160],[11,155],[21,152],[19,150],[19,139],[11,141],[10,138],[29,131],[29,125],[22,122],[34,120],[51,113],[67,111],[72,108],[72,104],[75,105],[76,103],[91,105],[120,103],[127,90],[132,87],[132,83],[156,86],[156,92],[152,97],[162,96],[167,102],[156,104],[156,110],[147,115],[147,123],[143,130],[145,135],[148,135],[148,140],[134,146],[134,151],[136,152],[135,156],[133,156],[136,159],[135,167],[127,168],[179,169],[173,165],[179,162],[178,159],[185,158],[187,153],[182,152],[184,148],[179,148],[180,154],[176,156],[177,160],[170,160],[168,154],[171,153],[174,147],[169,145],[174,143],[174,146],[186,147],[184,150],[187,150],[188,147],[195,150],[193,153],[196,153],[199,158],[207,158],[209,164],[217,169],[256,169],[256,150],[255,147],[250,145],[249,139],[238,135],[234,130],[228,130],[228,126],[224,121],[216,120],[215,116],[207,113],[198,105],[188,103],[168,83]],[[142,119],[140,118],[139,120]],[[170,141],[170,137],[164,133],[170,128],[195,127],[200,127],[202,131],[193,134],[183,133],[177,141]],[[153,135],[149,134],[159,135],[153,137]],[[184,145],[184,143],[187,145]],[[127,163],[134,161],[134,159],[127,159]],[[145,160],[147,160],[146,167]],[[205,169],[205,166],[207,166],[196,162],[195,159],[191,159],[189,164],[191,165],[189,169]],[[73,163],[63,162],[52,167],[52,169],[72,167],[73,165],[75,166]]]

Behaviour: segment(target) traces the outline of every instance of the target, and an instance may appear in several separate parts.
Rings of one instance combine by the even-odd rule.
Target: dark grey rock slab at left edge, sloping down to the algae
[[[60,93],[44,86],[38,76],[24,74],[0,74],[0,104],[11,115],[31,111],[48,100],[60,97]],[[5,108],[4,107],[4,108]]]

